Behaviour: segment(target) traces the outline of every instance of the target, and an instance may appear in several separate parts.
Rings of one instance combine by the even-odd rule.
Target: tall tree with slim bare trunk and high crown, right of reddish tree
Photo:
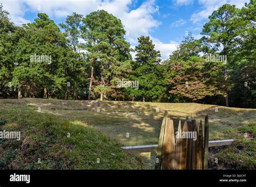
[[[238,13],[239,9],[235,8],[235,5],[224,4],[218,10],[213,11],[212,15],[209,16],[210,21],[204,25],[201,32],[201,34],[206,35],[205,41],[214,44],[215,48],[223,46],[219,54],[226,55],[227,59],[229,59],[230,52],[235,47],[238,30],[245,26],[245,22],[238,17]],[[226,90],[226,106],[229,106],[228,91],[231,89],[231,84],[229,84],[228,79],[232,69],[230,61],[227,61],[226,69],[227,81],[223,88]]]

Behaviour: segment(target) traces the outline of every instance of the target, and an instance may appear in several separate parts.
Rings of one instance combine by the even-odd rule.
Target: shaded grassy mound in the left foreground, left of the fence
[[[0,117],[0,131],[21,131],[22,136],[21,141],[0,139],[0,169],[143,168],[141,159],[127,156],[116,140],[80,121],[9,102],[0,102]]]

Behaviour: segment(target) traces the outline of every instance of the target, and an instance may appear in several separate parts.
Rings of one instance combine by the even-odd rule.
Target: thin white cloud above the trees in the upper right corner
[[[205,19],[208,18],[212,14],[214,10],[217,10],[220,6],[228,3],[235,5],[237,8],[242,8],[242,6],[245,5],[245,3],[250,2],[249,0],[199,0],[199,4],[203,5],[203,10],[193,13],[190,20],[193,23],[199,23],[200,21],[205,21]]]

